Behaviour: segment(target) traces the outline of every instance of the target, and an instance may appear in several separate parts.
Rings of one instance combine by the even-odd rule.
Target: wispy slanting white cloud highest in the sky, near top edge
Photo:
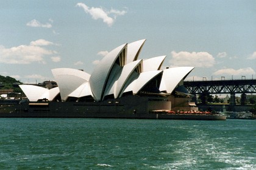
[[[125,10],[119,11],[112,9],[110,11],[102,9],[102,7],[88,7],[84,3],[77,3],[76,7],[81,7],[84,9],[85,13],[89,13],[93,19],[102,19],[104,23],[106,23],[109,27],[113,25],[113,22],[116,19],[116,16],[118,15],[124,15],[127,13]],[[112,15],[113,17],[110,17],[108,15]]]

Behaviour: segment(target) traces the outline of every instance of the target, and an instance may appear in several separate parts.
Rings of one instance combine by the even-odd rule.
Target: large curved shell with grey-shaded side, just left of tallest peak
[[[123,44],[117,47],[116,49],[112,50],[104,56],[104,58],[93,70],[89,82],[91,86],[91,91],[93,92],[94,100],[102,100],[103,95],[105,93],[105,86],[108,83],[110,72],[112,71],[112,67],[115,64],[116,60],[118,60],[118,58],[118,63],[121,66],[124,66],[127,53],[126,50],[127,44]]]

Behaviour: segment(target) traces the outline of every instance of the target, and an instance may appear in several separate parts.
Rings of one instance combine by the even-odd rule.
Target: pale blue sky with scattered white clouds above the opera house
[[[91,73],[140,39],[141,59],[195,67],[187,80],[256,78],[256,1],[0,0],[0,75],[24,83],[58,67]]]

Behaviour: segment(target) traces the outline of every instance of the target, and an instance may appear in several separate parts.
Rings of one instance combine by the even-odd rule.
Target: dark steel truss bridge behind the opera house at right
[[[241,94],[241,104],[246,101],[246,94],[256,93],[256,80],[203,80],[184,81],[184,86],[192,95],[200,94],[207,102],[209,94],[230,94],[230,105],[235,105],[235,94]],[[196,101],[196,98],[194,98]]]

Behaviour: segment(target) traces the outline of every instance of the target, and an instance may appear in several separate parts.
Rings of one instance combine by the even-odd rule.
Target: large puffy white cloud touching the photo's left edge
[[[53,55],[57,53],[54,50],[48,50],[40,46],[46,46],[52,42],[44,39],[30,42],[30,45],[21,45],[18,47],[5,48],[0,46],[0,63],[7,64],[30,64],[34,62],[43,63],[46,55]],[[31,45],[34,44],[34,45]],[[39,45],[39,46],[38,46]]]

